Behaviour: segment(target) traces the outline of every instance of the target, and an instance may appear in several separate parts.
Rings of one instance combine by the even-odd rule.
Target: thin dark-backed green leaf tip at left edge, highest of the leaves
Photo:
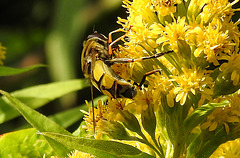
[[[46,65],[38,64],[38,65],[29,66],[26,68],[12,68],[12,67],[0,66],[0,76],[18,75],[18,74],[28,72],[40,67],[46,67]]]

